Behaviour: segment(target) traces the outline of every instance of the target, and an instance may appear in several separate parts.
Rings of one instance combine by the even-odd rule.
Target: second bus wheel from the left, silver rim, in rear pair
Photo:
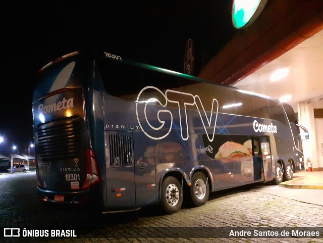
[[[195,207],[204,205],[208,200],[209,184],[206,180],[206,176],[202,172],[196,172],[192,177],[190,190],[192,205]]]

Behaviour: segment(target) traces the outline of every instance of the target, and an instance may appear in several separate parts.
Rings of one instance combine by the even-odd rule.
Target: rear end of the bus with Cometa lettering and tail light
[[[90,70],[91,65],[76,52],[39,71],[33,126],[37,185],[43,201],[82,204],[100,182],[86,119]]]

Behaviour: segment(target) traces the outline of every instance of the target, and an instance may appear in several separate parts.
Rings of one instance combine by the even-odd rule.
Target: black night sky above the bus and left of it
[[[195,73],[236,33],[232,0],[2,1],[1,151],[33,140],[37,71],[70,52],[109,51],[183,72],[186,42],[195,43]]]

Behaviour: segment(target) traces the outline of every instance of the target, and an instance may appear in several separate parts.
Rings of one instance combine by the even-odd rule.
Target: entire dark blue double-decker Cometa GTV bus
[[[39,71],[33,94],[42,201],[102,211],[187,200],[304,170],[300,129],[277,99],[104,52]],[[286,114],[288,112],[288,114]],[[184,197],[185,196],[185,197]]]

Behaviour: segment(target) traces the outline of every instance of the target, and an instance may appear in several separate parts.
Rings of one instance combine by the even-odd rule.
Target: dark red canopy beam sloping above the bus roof
[[[322,0],[268,1],[256,21],[239,30],[198,77],[234,85],[322,29]]]

